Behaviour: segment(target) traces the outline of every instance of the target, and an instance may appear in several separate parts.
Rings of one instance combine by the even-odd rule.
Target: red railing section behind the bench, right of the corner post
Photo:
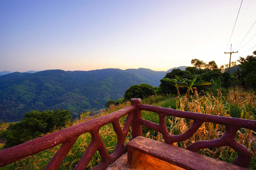
[[[155,124],[153,122],[144,120],[141,116],[137,116],[138,122],[141,125],[147,126],[150,129],[154,129],[163,134],[164,141],[168,144],[172,144],[175,142],[185,141],[193,136],[196,133],[197,129],[204,122],[212,122],[215,124],[224,125],[226,127],[225,133],[222,137],[218,139],[213,139],[209,141],[197,141],[192,143],[187,147],[187,150],[195,151],[201,148],[215,148],[221,146],[229,146],[232,147],[235,151],[237,151],[238,156],[234,160],[233,164],[239,165],[241,167],[247,167],[251,161],[251,153],[243,146],[241,143],[236,141],[236,134],[240,128],[246,128],[256,131],[256,121],[253,120],[245,120],[241,118],[233,118],[233,117],[222,117],[222,116],[214,116],[210,114],[203,113],[192,113],[192,112],[184,112],[177,111],[174,109],[161,108],[151,105],[139,105],[139,108],[143,111],[151,111],[159,114],[159,124]],[[139,113],[139,112],[138,112]],[[183,134],[172,135],[168,132],[166,126],[166,116],[175,116],[188,118],[193,121],[191,127],[185,131]]]

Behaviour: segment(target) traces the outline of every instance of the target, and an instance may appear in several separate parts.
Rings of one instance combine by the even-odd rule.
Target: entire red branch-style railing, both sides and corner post
[[[144,120],[142,118],[142,110],[158,113],[159,124]],[[119,118],[126,115],[127,118],[125,124],[123,126],[123,129],[121,129],[121,126],[119,125]],[[192,126],[187,131],[185,131],[185,133],[180,135],[171,135],[167,130],[165,120],[166,116],[189,118],[194,121]],[[174,142],[180,142],[190,138],[193,134],[196,133],[197,129],[200,128],[203,122],[213,122],[216,124],[225,125],[226,131],[221,138],[213,139],[210,141],[197,141],[195,143],[192,143],[187,147],[188,150],[195,151],[200,148],[230,146],[238,152],[238,157],[236,160],[234,160],[233,164],[240,165],[242,167],[247,167],[249,165],[251,160],[250,151],[245,146],[241,145],[236,141],[236,134],[238,129],[240,128],[246,128],[256,131],[256,121],[243,120],[231,117],[213,116],[201,113],[182,112],[174,109],[143,105],[141,104],[141,99],[132,99],[131,106],[123,108],[119,111],[115,111],[102,117],[94,118],[93,120],[90,120],[88,122],[84,122],[82,124],[75,125],[61,131],[57,131],[56,133],[34,139],[33,141],[29,141],[18,146],[1,150],[0,167],[13,163],[22,158],[26,158],[27,156],[34,155],[40,151],[47,150],[48,148],[62,144],[59,151],[56,152],[52,160],[45,168],[57,169],[59,168],[65,156],[71,150],[77,138],[81,134],[90,133],[92,135],[90,144],[86,149],[84,155],[80,159],[79,163],[77,163],[75,169],[85,169],[97,150],[100,153],[102,161],[93,169],[106,169],[121,155],[127,152],[127,148],[126,145],[124,145],[124,142],[131,124],[133,138],[137,137],[138,135],[142,135],[143,125],[159,131],[163,134],[165,142],[168,144],[172,144]],[[111,155],[108,154],[104,142],[102,141],[99,134],[99,129],[109,123],[112,123],[113,129],[117,134],[118,138],[117,146],[115,147],[115,150]]]

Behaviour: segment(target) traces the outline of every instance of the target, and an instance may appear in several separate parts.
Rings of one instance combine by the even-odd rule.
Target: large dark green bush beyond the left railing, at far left
[[[6,143],[4,148],[19,145],[39,137],[43,133],[48,133],[53,128],[65,126],[71,121],[69,111],[57,109],[53,111],[31,111],[26,113],[24,119],[18,123],[10,124],[6,130]]]

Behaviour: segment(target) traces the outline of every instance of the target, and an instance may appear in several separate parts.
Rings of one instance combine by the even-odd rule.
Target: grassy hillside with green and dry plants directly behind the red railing
[[[255,118],[255,102],[256,96],[252,91],[243,91],[241,88],[230,88],[228,91],[221,92],[216,90],[216,95],[214,93],[202,94],[201,96],[195,96],[191,99],[188,99],[186,96],[177,97],[174,95],[155,95],[150,96],[142,100],[143,104],[156,105],[159,107],[173,108],[180,111],[189,111],[189,112],[198,112],[204,114],[213,114],[218,116],[228,116],[231,114],[236,114],[236,117],[246,118],[254,120]],[[85,116],[82,119],[77,119],[73,125],[80,124],[91,120],[92,118],[98,116],[104,116],[111,112],[117,111],[118,109],[127,107],[130,105],[130,102],[127,101],[119,105],[111,105],[108,111],[104,111],[101,114],[90,117]],[[234,116],[234,115],[233,115]],[[156,113],[152,112],[142,112],[142,117],[146,120],[158,123],[159,117]],[[186,120],[184,118],[177,117],[166,117],[167,128],[171,134],[181,134],[191,126],[192,121]],[[125,118],[121,118],[119,121],[121,127]],[[68,128],[67,125],[66,128]],[[59,130],[59,129],[56,129]],[[54,131],[56,131],[54,130]],[[53,131],[53,132],[54,132]],[[193,143],[198,140],[209,140],[220,137],[225,131],[224,126],[213,125],[211,123],[204,123],[196,134],[187,141],[175,143],[179,147],[187,147],[190,143]],[[105,143],[106,148],[108,149],[109,154],[112,154],[114,151],[117,135],[114,133],[113,127],[111,124],[105,125],[100,129],[100,134],[102,140]],[[154,138],[158,141],[164,141],[161,134],[157,133],[154,130],[143,127],[143,136]],[[131,133],[127,135],[126,142],[131,138]],[[250,169],[256,168],[256,159],[255,159],[255,134],[252,130],[240,129],[237,134],[237,141],[249,148],[253,158],[251,160]],[[69,152],[68,156],[64,159],[63,164],[61,164],[60,169],[72,169],[75,167],[76,163],[81,158],[82,154],[88,147],[90,142],[90,134],[86,133],[79,137],[72,150]],[[28,158],[19,160],[16,163],[7,165],[1,169],[43,169],[52,156],[56,153],[60,146],[53,147],[49,150],[42,151],[39,154],[28,156]],[[225,162],[232,163],[236,158],[237,154],[229,147],[213,148],[200,150],[200,154],[210,156],[212,158],[224,160]],[[101,158],[98,152],[93,156],[92,161],[89,164],[87,169],[92,168],[94,165],[100,163]]]

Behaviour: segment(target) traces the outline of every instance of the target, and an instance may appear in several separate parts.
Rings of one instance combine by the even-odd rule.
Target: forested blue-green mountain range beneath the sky
[[[160,80],[160,79],[159,79]],[[158,81],[159,81],[158,80]],[[133,84],[152,80],[119,69],[92,71],[46,70],[0,76],[0,121],[19,121],[31,110],[68,109],[76,117],[123,98]]]

